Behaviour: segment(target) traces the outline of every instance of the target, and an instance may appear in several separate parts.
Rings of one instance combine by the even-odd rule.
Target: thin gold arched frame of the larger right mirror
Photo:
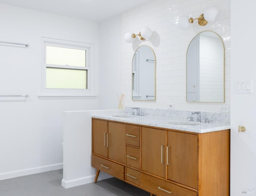
[[[200,35],[201,33],[203,32],[212,32],[214,34],[216,34],[220,40],[221,40],[221,43],[222,43],[222,46],[223,46],[223,102],[200,102],[200,101],[188,101],[188,96],[187,96],[187,89],[188,89],[188,83],[187,83],[187,78],[188,78],[188,49],[187,49],[187,52],[186,52],[186,102],[188,103],[225,103],[225,46],[224,46],[224,42],[222,40],[222,38],[214,31],[202,31],[202,32],[199,32],[198,34],[196,34],[196,36]],[[192,38],[192,40],[194,40],[194,38],[196,38],[196,36],[194,36]],[[192,40],[190,41],[189,45],[188,45],[188,48],[192,42]]]

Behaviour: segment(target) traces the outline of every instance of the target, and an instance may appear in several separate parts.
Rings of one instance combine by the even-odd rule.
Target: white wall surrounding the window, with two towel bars
[[[0,40],[30,44],[0,45],[0,180],[62,168],[64,110],[98,109],[98,99],[38,99],[41,87],[41,37],[94,44],[94,88],[98,94],[98,23],[0,4]]]

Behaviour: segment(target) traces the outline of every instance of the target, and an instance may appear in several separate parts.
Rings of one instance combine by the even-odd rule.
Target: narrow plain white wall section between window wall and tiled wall
[[[100,23],[99,108],[118,108],[121,94],[121,16]],[[126,99],[126,97],[124,98]]]

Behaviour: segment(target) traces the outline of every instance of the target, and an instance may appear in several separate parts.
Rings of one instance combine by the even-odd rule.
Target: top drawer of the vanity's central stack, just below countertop
[[[125,143],[132,146],[140,146],[140,126],[126,124]]]

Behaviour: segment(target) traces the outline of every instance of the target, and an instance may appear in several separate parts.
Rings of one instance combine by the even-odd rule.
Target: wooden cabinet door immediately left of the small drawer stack
[[[108,122],[108,158],[125,164],[125,126]]]

